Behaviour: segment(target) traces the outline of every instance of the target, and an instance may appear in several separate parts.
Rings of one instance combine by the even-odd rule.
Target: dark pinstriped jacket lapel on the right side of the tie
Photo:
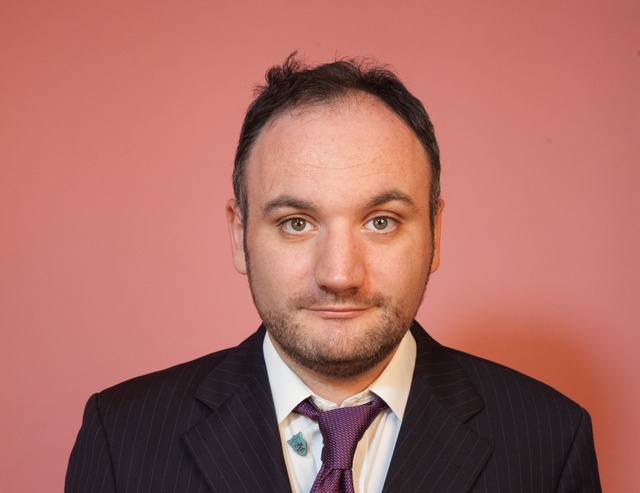
[[[484,407],[455,353],[417,323],[416,368],[384,492],[469,491],[493,448],[464,423]]]

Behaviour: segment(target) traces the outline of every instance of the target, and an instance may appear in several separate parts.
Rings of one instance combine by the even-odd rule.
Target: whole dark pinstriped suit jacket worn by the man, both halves
[[[415,373],[385,492],[600,491],[584,409],[418,324],[412,333]],[[65,491],[290,492],[263,337],[92,396]]]

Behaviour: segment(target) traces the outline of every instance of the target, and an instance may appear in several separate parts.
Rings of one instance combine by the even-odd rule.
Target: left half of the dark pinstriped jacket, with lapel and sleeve
[[[290,491],[263,338],[92,396],[65,491]]]

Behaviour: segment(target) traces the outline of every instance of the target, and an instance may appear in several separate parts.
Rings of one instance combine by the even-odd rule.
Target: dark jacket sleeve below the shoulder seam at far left
[[[82,427],[71,451],[65,493],[115,492],[111,453],[100,411],[98,394],[91,396],[84,410]]]

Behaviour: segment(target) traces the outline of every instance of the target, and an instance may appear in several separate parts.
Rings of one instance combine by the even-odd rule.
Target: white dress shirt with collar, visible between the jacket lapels
[[[373,394],[381,397],[389,409],[378,415],[358,443],[353,460],[353,481],[356,493],[380,493],[402,424],[416,362],[416,342],[411,333],[405,334],[393,358],[369,388],[348,398],[340,406],[309,390],[282,361],[268,333],[264,338],[263,351],[293,493],[308,493],[322,464],[322,435],[318,423],[293,413],[293,409],[309,396],[318,408],[327,411],[364,404],[373,399]],[[299,432],[307,444],[305,456],[298,455],[287,443]]]

